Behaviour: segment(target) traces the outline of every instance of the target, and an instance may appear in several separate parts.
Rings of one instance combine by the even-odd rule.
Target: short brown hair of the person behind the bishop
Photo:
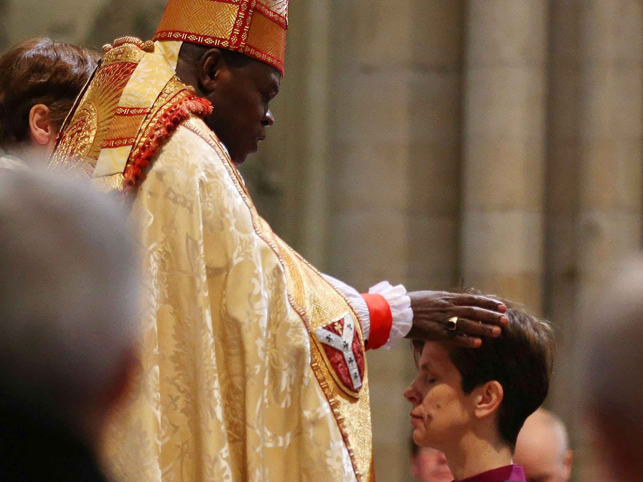
[[[0,58],[0,146],[29,138],[29,112],[51,110],[60,128],[80,90],[96,68],[94,51],[51,39],[24,40]]]

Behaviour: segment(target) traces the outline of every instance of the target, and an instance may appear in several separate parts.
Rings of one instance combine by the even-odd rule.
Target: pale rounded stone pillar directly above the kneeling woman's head
[[[465,285],[542,301],[548,4],[467,3]]]

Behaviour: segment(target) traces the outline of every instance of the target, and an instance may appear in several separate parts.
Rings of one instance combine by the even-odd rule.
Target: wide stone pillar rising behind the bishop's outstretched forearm
[[[464,3],[334,1],[329,271],[457,284]],[[376,476],[411,480],[408,343],[368,356]]]

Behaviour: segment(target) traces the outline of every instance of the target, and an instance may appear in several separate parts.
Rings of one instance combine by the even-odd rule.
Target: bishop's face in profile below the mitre
[[[279,93],[281,74],[258,60],[217,71],[216,89],[208,96],[212,115],[208,126],[226,146],[237,165],[256,152],[275,123],[269,103]]]

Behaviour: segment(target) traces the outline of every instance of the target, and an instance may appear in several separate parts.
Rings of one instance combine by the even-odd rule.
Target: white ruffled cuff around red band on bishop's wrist
[[[323,275],[323,277],[349,299],[359,317],[364,340],[368,340],[368,337],[370,336],[370,313],[368,313],[366,300],[361,297],[359,291],[345,282],[335,279],[329,275]],[[386,344],[383,347],[386,350],[390,350],[396,340],[404,338],[404,336],[408,335],[408,332],[411,331],[413,326],[411,298],[408,297],[404,286],[401,284],[392,286],[388,281],[377,283],[368,290],[368,293],[384,297],[391,309],[393,325],[391,327],[391,334],[388,336],[388,341],[386,341]]]

